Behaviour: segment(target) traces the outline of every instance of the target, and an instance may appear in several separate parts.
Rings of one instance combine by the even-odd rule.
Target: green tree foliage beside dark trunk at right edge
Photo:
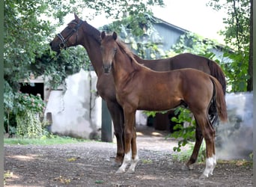
[[[228,77],[228,85],[232,92],[243,92],[252,89],[252,60],[250,56],[250,22],[252,4],[250,0],[211,0],[208,5],[215,10],[225,9],[227,17],[223,18],[225,29],[220,34],[225,36],[228,48],[225,58],[231,59],[229,63],[223,63],[222,67]],[[252,20],[252,19],[251,19]],[[231,50],[232,49],[232,52]]]

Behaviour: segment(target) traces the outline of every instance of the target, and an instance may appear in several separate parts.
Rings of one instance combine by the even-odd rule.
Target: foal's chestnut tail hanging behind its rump
[[[227,112],[227,105],[225,101],[225,95],[222,91],[222,85],[218,82],[217,79],[214,77],[210,77],[210,79],[213,82],[213,89],[215,93],[213,95],[213,102],[214,105],[216,105],[216,109],[218,112],[219,119],[222,120],[223,122],[226,122],[228,120],[228,112]]]

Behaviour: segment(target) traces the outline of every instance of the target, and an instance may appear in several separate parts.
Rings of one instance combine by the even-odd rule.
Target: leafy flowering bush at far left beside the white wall
[[[40,118],[45,106],[40,94],[15,92],[4,82],[4,132],[28,138],[43,135]]]

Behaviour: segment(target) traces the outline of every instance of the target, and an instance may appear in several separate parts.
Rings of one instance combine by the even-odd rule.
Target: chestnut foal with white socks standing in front
[[[117,173],[124,173],[131,159],[128,172],[134,172],[138,162],[136,110],[164,111],[186,105],[194,114],[196,126],[206,142],[206,168],[201,177],[212,175],[216,165],[215,130],[208,116],[212,100],[216,102],[220,120],[228,118],[225,96],[218,80],[191,68],[168,72],[150,70],[138,64],[127,46],[117,40],[115,32],[106,35],[103,31],[101,38],[103,70],[105,73],[112,70],[116,96],[124,110],[124,162]]]

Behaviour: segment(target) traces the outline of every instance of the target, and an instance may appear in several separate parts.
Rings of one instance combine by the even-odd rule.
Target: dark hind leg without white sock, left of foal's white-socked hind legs
[[[198,126],[198,123],[196,122],[196,127],[195,127],[195,146],[192,152],[192,155],[190,156],[190,159],[188,162],[186,162],[186,167],[190,168],[190,166],[192,164],[194,164],[196,162],[196,160],[198,159],[198,153],[203,141],[203,135],[201,132],[200,127]]]

